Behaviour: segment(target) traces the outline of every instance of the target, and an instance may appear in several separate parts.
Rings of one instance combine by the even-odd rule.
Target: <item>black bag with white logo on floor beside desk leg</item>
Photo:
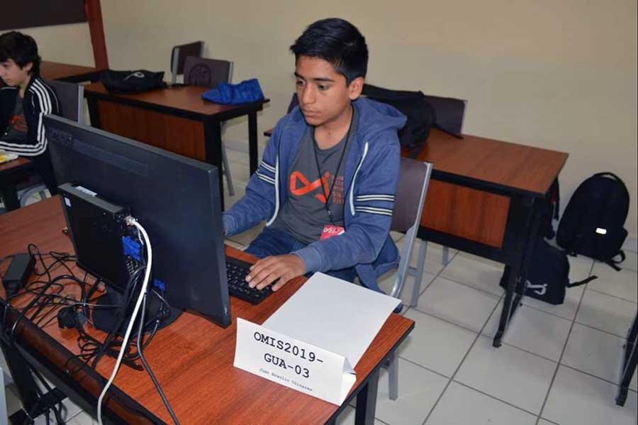
[[[588,277],[580,282],[569,282],[569,260],[564,251],[549,245],[544,238],[538,238],[534,245],[532,260],[527,266],[525,296],[540,299],[549,304],[563,304],[565,289],[585,285],[596,279]],[[505,267],[500,286],[505,288],[510,279],[510,267]]]

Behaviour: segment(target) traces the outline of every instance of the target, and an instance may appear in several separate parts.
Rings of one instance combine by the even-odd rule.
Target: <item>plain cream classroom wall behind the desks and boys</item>
[[[259,116],[260,133],[284,114],[293,92],[289,45],[318,18],[346,18],[366,36],[369,82],[467,99],[466,133],[569,152],[561,173],[565,201],[593,172],[617,173],[632,198],[626,227],[638,233],[635,0],[110,0],[101,6],[113,68],[165,70],[168,77],[172,46],[204,40],[208,57],[235,62],[235,82],[259,78],[271,99]],[[47,40],[43,51],[59,55],[55,60],[84,60],[86,40],[65,36],[57,48]],[[230,125],[228,136],[247,139],[245,121]]]

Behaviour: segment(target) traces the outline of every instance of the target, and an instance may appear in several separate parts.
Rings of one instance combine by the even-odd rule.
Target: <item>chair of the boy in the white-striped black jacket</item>
[[[57,101],[60,105],[57,115],[82,123],[84,121],[84,86],[57,80],[47,80],[45,83],[53,89],[57,96]],[[32,181],[27,182],[26,187],[18,189],[20,206],[25,206],[28,199],[34,194],[38,194],[40,200],[45,199],[47,197],[46,189],[47,187],[42,183],[42,180],[34,176]]]

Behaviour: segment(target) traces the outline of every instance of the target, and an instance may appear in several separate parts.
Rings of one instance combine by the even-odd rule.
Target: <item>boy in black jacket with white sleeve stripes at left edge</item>
[[[38,45],[29,35],[0,35],[0,150],[28,157],[51,194],[57,184],[47,150],[45,114],[57,114],[55,92],[40,78]]]

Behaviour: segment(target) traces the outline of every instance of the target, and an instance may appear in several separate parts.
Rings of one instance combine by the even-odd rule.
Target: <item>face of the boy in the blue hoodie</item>
[[[330,62],[308,56],[298,58],[295,77],[301,112],[306,123],[315,127],[338,123],[347,116],[350,101],[359,97],[364,82],[358,77],[347,85]]]

